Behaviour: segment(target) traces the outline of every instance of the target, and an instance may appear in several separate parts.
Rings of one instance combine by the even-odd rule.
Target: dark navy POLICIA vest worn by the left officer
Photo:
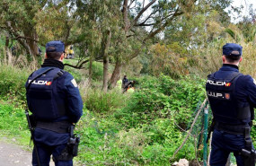
[[[29,76],[26,83],[27,101],[37,120],[54,121],[66,116],[65,74],[59,68],[50,68]]]

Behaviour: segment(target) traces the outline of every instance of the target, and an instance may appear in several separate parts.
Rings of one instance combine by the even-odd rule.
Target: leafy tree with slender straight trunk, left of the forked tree
[[[110,57],[110,43],[119,36],[119,4],[116,0],[74,0],[77,33],[71,33],[67,42],[76,43],[79,48],[79,62],[76,68],[89,65],[89,79],[92,77],[93,61],[103,62],[103,85],[102,89],[107,91],[108,69]],[[112,37],[113,36],[113,37]],[[71,65],[68,65],[71,66]]]

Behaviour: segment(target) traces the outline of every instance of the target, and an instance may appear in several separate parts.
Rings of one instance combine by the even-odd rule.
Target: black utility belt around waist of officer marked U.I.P
[[[224,131],[224,132],[232,134],[232,135],[250,135],[250,132],[251,132],[251,124],[227,125],[227,124],[224,124],[221,122],[216,122],[215,128],[217,130]],[[248,130],[249,130],[249,132],[248,132]]]

